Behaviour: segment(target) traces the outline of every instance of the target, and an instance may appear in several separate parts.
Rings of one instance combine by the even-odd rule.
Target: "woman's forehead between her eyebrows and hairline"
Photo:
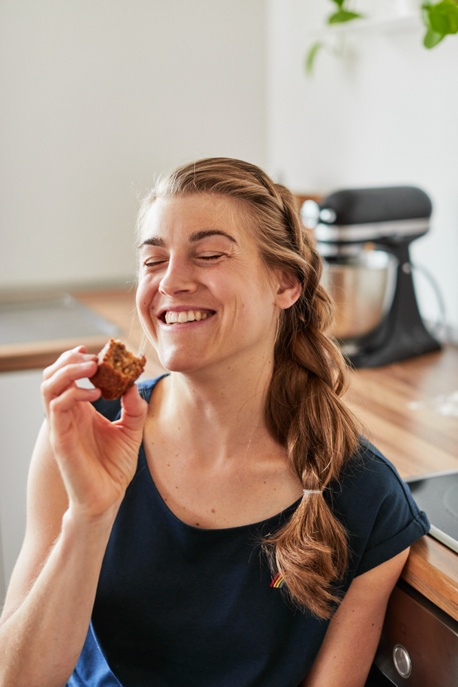
[[[243,242],[249,238],[246,224],[240,205],[231,198],[209,194],[174,196],[154,201],[141,238],[186,238],[203,229],[222,229]]]

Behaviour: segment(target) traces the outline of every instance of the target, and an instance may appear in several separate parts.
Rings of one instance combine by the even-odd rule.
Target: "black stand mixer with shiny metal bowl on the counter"
[[[409,246],[429,229],[431,201],[413,186],[341,190],[301,211],[325,259],[325,286],[345,317],[334,334],[357,368],[433,350],[412,278]],[[392,274],[393,278],[390,278]],[[373,292],[373,293],[371,293]],[[357,311],[363,302],[364,312]]]

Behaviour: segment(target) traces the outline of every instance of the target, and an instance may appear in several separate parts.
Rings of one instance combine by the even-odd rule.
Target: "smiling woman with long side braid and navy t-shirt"
[[[340,400],[320,275],[259,168],[159,181],[137,308],[170,375],[119,403],[82,347],[45,370],[2,687],[365,684],[428,522]]]

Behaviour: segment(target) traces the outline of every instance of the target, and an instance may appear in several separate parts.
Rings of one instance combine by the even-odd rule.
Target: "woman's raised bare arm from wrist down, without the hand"
[[[67,683],[86,638],[115,516],[84,521],[67,504],[62,508],[65,488],[45,442],[44,429],[31,470],[27,533],[0,619],[1,687]]]

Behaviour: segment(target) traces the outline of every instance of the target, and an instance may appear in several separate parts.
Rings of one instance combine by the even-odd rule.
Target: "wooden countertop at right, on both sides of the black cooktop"
[[[345,400],[401,477],[458,469],[458,418],[439,414],[437,401],[458,390],[458,348],[357,370],[351,379]],[[422,537],[402,578],[458,620],[458,554]]]

